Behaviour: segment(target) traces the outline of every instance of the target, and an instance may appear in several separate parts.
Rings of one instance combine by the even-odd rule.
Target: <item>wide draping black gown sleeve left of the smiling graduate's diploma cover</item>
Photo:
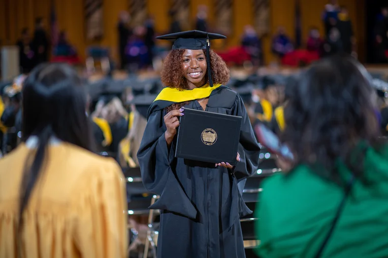
[[[197,210],[180,186],[173,169],[175,141],[168,148],[165,138],[164,113],[163,110],[158,110],[148,117],[137,155],[144,187],[160,196],[149,208],[166,209],[196,218]]]

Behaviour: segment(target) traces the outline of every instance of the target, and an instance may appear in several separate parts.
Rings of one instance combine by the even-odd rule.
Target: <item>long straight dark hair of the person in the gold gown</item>
[[[23,226],[23,211],[48,159],[47,146],[52,136],[93,151],[90,123],[85,114],[86,92],[77,71],[68,64],[41,64],[23,84],[22,140],[38,137],[24,166],[20,187],[18,244]]]

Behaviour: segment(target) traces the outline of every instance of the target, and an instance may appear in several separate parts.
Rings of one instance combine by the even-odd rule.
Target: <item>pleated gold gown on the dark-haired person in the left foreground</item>
[[[17,257],[20,183],[26,143],[0,159],[0,257]],[[23,213],[22,257],[124,258],[125,178],[110,158],[58,141]]]

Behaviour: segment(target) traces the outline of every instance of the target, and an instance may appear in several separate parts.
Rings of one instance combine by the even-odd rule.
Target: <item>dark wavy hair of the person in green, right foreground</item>
[[[341,160],[361,177],[365,155],[355,147],[361,140],[377,147],[380,133],[365,67],[350,56],[332,56],[314,63],[292,87],[282,140],[296,157],[294,165],[313,166],[318,175],[340,183]]]

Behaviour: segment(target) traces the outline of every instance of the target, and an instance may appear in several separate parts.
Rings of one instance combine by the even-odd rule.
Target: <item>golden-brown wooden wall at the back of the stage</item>
[[[175,0],[176,1],[176,0]],[[196,16],[199,5],[209,8],[210,24],[214,24],[215,0],[191,0],[189,4],[191,24]],[[236,46],[240,42],[244,26],[254,24],[254,0],[232,0],[232,28],[227,46]],[[270,51],[272,33],[279,25],[283,25],[287,33],[294,38],[295,34],[295,1],[296,0],[268,0],[269,1],[269,33],[264,37],[265,61],[275,60]],[[86,38],[84,3],[82,0],[0,0],[0,45],[14,44],[23,27],[34,28],[35,17],[42,16],[46,20],[46,27],[50,29],[51,3],[55,2],[59,29],[66,29],[71,43],[77,48],[81,58],[85,57],[85,48],[89,45],[110,47],[113,56],[117,56],[117,17],[121,10],[128,10],[128,0],[103,0],[104,34],[100,41]],[[157,33],[164,33],[169,29],[170,19],[167,15],[172,0],[146,0],[148,13],[154,16]],[[302,35],[305,41],[311,26],[317,26],[323,34],[321,13],[328,0],[300,0],[302,17]],[[360,59],[365,55],[365,0],[339,0],[340,5],[349,9],[353,21],[355,35],[359,42]],[[129,11],[129,10],[128,10]]]

